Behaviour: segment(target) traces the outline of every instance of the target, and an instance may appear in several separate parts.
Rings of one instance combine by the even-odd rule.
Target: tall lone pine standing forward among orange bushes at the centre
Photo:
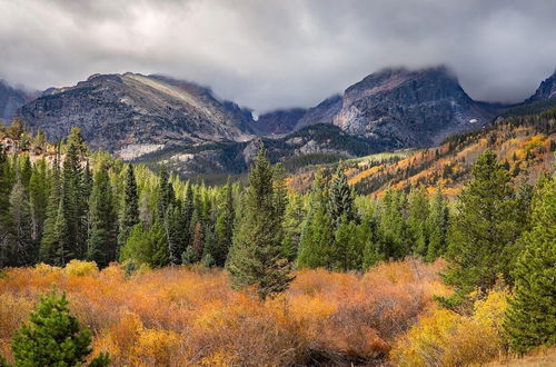
[[[245,212],[227,264],[232,286],[255,287],[260,300],[286,290],[294,279],[290,262],[280,254],[284,204],[277,198],[275,179],[261,145],[249,172]]]

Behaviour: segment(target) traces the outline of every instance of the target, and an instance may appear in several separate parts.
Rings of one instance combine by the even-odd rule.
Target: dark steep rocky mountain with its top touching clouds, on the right
[[[476,102],[446,68],[385,69],[349,87],[332,123],[350,135],[390,138],[403,147],[423,147],[477,129],[496,116]]]

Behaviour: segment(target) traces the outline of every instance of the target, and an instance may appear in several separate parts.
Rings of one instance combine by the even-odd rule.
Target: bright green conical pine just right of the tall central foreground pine
[[[309,206],[299,239],[299,268],[332,266],[334,226],[329,214],[329,195],[321,172],[317,172],[309,195]]]

